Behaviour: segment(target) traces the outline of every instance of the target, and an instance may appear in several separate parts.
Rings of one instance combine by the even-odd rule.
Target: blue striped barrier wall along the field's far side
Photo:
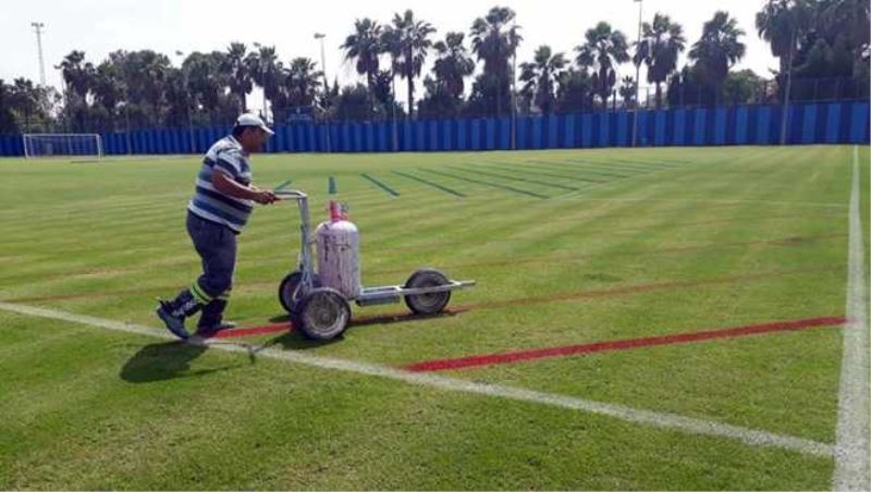
[[[786,142],[868,144],[867,101],[803,103],[789,107]],[[783,108],[738,106],[639,111],[636,145],[774,145],[781,140]],[[626,147],[633,144],[631,112],[518,116],[517,149]],[[275,127],[269,152],[390,152],[510,150],[511,119],[458,119],[416,122],[293,124]],[[102,135],[107,155],[203,153],[230,133],[229,126],[140,130]],[[0,156],[22,156],[19,135],[0,136]]]

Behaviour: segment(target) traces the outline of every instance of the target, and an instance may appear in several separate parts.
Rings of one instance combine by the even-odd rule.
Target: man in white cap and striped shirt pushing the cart
[[[203,161],[194,198],[187,205],[187,233],[203,260],[203,274],[173,300],[159,300],[157,316],[176,336],[189,334],[185,318],[201,311],[197,335],[209,336],[234,324],[223,321],[236,263],[236,235],[254,202],[278,200],[272,192],[252,186],[248,156],[257,152],[273,132],[254,114],[236,120],[233,133],[214,143]]]

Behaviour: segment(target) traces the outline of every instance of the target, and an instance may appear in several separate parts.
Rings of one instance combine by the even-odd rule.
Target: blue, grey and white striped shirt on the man
[[[216,172],[224,173],[246,186],[252,182],[248,153],[232,136],[216,142],[206,152],[197,176],[196,192],[187,210],[201,219],[226,225],[238,234],[252,214],[254,201],[234,198],[216,189],[211,184]]]

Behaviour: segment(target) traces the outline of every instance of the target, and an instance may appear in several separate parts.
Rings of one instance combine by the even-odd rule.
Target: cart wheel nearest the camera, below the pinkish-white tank
[[[351,321],[351,305],[339,291],[315,288],[299,299],[294,327],[306,339],[327,341],[341,335]]]

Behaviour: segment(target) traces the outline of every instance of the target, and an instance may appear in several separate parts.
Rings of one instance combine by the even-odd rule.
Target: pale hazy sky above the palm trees
[[[645,21],[661,12],[680,23],[688,45],[699,38],[702,24],[715,11],[728,11],[747,33],[743,38],[747,54],[737,69],[751,69],[769,77],[777,61],[753,26],[756,12],[764,2],[643,0],[641,7]],[[352,32],[355,19],[369,16],[387,23],[395,12],[412,9],[417,17],[438,29],[438,39],[450,30],[468,36],[475,17],[483,16],[493,5],[510,7],[517,12],[524,36],[518,63],[530,60],[536,48],[544,44],[572,56],[574,47],[582,42],[586,29],[599,21],[608,21],[630,40],[638,34],[639,3],[634,0],[28,0],[15,2],[14,9],[3,9],[0,16],[0,46],[7,47],[0,58],[0,78],[24,76],[39,81],[36,34],[30,25],[38,21],[45,24],[47,83],[56,87],[61,86],[61,76],[53,66],[74,49],[85,51],[95,64],[116,49],[154,49],[179,65],[182,57],[176,51],[225,50],[231,41],[249,47],[260,42],[275,46],[285,63],[291,58],[308,57],[320,64],[320,45],[314,38],[318,32],[327,35],[326,67],[330,81],[339,77],[340,83],[353,83],[361,77],[353,64],[343,61],[339,46]],[[685,60],[686,52],[679,66]],[[634,65],[621,66],[619,75],[635,75]],[[641,79],[645,77],[642,69]],[[403,100],[404,86],[398,87]],[[420,93],[422,88],[418,89],[418,97]],[[261,100],[262,95],[256,93],[249,96],[248,103],[258,107]]]

